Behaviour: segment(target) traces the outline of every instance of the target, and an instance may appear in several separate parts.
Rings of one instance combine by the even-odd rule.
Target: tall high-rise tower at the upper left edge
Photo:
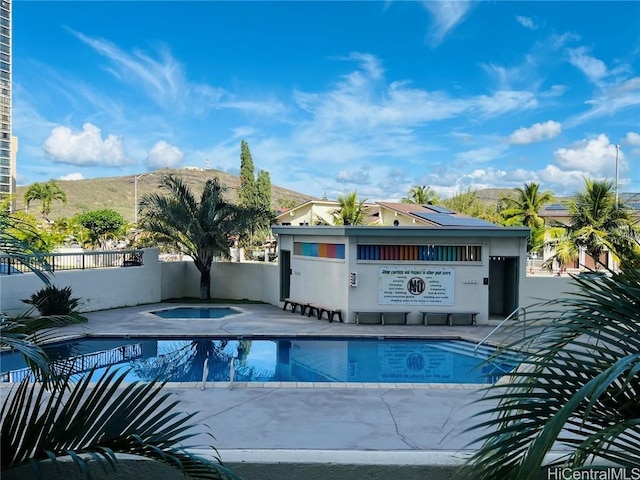
[[[17,147],[11,136],[11,0],[0,0],[0,195],[15,193]]]

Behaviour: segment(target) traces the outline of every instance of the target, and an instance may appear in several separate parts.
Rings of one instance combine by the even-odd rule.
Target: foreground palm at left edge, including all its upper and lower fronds
[[[0,226],[12,223],[0,215]],[[0,251],[37,272],[46,262],[32,264],[23,249],[28,245],[0,228]],[[31,252],[33,254],[33,252]],[[48,280],[48,271],[40,276]],[[56,327],[80,323],[73,315],[9,318],[0,314],[0,348],[20,352],[41,383],[29,376],[5,397],[0,408],[0,471],[31,465],[37,475],[40,461],[54,464],[70,458],[91,478],[89,460],[115,471],[116,454],[125,453],[167,464],[194,479],[239,479],[219,458],[208,460],[186,451],[195,433],[196,413],[176,412],[178,402],[162,393],[156,380],[134,382],[121,388],[127,371],[107,369],[93,383],[94,371],[78,382],[71,380],[71,365],[50,363],[39,343],[53,340]],[[215,452],[215,449],[213,449]]]

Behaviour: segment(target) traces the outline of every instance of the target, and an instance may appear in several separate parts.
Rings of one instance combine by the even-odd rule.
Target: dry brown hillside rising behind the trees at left
[[[138,201],[140,201],[144,194],[156,190],[160,178],[166,174],[180,176],[192,191],[196,192],[196,195],[202,192],[202,187],[208,179],[218,177],[228,188],[228,198],[232,201],[237,201],[238,186],[240,185],[239,177],[214,169],[162,169],[145,173],[143,176],[138,176]],[[103,208],[115,210],[127,221],[133,221],[134,219],[135,182],[133,175],[87,178],[84,180],[56,180],[56,183],[67,195],[67,203],[54,202],[51,206],[50,220],[56,220],[60,217],[72,217],[76,213],[100,210]],[[25,208],[23,197],[26,188],[26,186],[17,188],[18,198],[16,199],[16,208],[18,210]],[[281,188],[276,185],[272,185],[271,195],[273,208],[298,205],[315,199],[315,197],[294,192],[293,190],[287,190],[286,188]],[[40,202],[36,200],[31,204],[30,211],[37,213],[39,208]]]

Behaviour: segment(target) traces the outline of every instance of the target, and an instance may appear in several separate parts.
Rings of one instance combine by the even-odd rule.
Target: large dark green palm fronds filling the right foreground
[[[638,262],[637,254],[622,256],[611,277],[575,277],[579,292],[545,305],[556,308],[543,309],[527,322],[530,333],[505,347],[524,360],[486,389],[481,402],[491,405],[471,428],[482,446],[470,477],[533,480],[550,466],[640,466]],[[546,460],[552,450],[563,455]]]

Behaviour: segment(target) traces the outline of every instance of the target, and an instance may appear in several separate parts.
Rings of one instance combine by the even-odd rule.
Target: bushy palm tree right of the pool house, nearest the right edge
[[[565,228],[564,241],[574,245],[576,252],[584,248],[594,262],[600,262],[605,251],[620,251],[638,238],[637,227],[621,203],[616,203],[613,182],[608,180],[585,179],[584,190],[569,202],[570,223]],[[550,242],[554,247],[554,257],[566,245]],[[633,247],[631,246],[633,249]]]

